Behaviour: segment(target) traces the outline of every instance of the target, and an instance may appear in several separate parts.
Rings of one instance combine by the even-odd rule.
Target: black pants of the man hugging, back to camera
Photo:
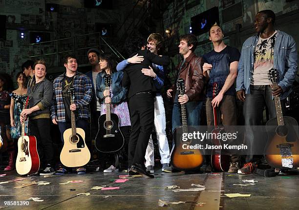
[[[154,99],[149,93],[129,99],[131,134],[128,145],[128,167],[133,163],[144,164],[149,136],[154,125]]]

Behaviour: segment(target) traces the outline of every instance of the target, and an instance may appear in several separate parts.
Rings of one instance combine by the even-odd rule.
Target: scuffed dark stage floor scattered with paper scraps
[[[119,175],[126,174],[124,171],[107,174],[94,171],[85,175],[66,174],[55,177],[27,177],[19,176],[16,171],[1,171],[1,174],[4,173],[7,175],[0,177],[0,209],[5,207],[5,210],[298,210],[299,208],[299,170],[297,169],[294,170],[293,175],[276,177],[262,177],[257,174],[167,173],[156,169],[154,179],[134,177],[124,183],[114,182],[119,179]],[[249,184],[242,180],[252,179],[258,181],[254,183],[256,185],[233,185]],[[34,184],[35,182],[42,183],[42,181],[50,183]],[[60,184],[68,181],[83,182]],[[26,183],[32,185],[15,188]],[[192,184],[205,186],[205,190],[172,191],[197,188]],[[119,187],[119,189],[91,189],[105,185]],[[180,188],[166,189],[167,186],[173,185]],[[90,193],[90,195],[78,196],[79,193]],[[250,194],[250,197],[229,198],[224,195],[225,193]],[[37,197],[43,201],[21,202],[31,197]],[[159,199],[167,203],[178,201],[186,203],[159,207]],[[24,205],[20,206],[21,204]]]

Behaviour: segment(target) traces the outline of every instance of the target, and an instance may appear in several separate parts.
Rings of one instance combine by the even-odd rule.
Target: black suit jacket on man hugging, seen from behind
[[[132,97],[136,93],[143,91],[156,91],[156,87],[153,84],[152,78],[144,75],[141,72],[142,68],[149,68],[152,63],[157,65],[168,65],[170,63],[169,58],[166,56],[157,56],[151,53],[149,50],[139,50],[138,56],[143,56],[144,60],[141,63],[130,63],[124,70],[123,86],[129,86],[128,98]],[[132,56],[136,55],[134,53]],[[130,56],[130,57],[132,57]]]

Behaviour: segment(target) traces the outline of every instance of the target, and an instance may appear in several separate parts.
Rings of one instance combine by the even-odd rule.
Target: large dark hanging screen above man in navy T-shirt
[[[218,7],[213,7],[199,15],[196,15],[191,18],[191,27],[192,34],[198,36],[200,34],[206,33],[210,30],[211,26],[219,23],[219,12]]]

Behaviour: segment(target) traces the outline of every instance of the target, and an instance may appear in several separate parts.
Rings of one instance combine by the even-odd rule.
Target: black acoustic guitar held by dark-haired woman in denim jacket
[[[106,90],[111,85],[111,76],[105,76]],[[120,150],[125,143],[124,136],[118,126],[117,114],[111,113],[110,103],[106,104],[106,114],[99,117],[99,130],[95,139],[95,146],[101,152],[116,152]]]

